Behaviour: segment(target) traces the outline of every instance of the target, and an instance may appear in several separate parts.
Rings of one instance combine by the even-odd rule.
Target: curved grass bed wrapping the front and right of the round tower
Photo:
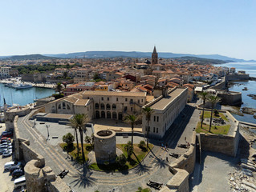
[[[116,147],[122,150],[123,154],[126,158],[128,158],[127,152],[124,150],[124,146],[126,144],[117,144]],[[153,145],[149,144],[149,149],[152,149]],[[137,144],[133,144],[133,154],[131,155],[131,158],[128,158],[128,161],[126,162],[125,166],[119,166],[117,163],[111,163],[105,162],[104,164],[97,164],[92,163],[89,167],[93,170],[101,170],[101,171],[120,171],[120,170],[129,170],[133,167],[137,166],[148,154],[147,150],[140,149],[140,147]]]

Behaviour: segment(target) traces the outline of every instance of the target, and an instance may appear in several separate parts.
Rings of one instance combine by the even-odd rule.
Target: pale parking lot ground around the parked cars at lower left
[[[0,126],[2,126],[0,128],[0,135],[2,134],[2,132],[5,130],[5,124],[4,123],[0,123]],[[6,162],[12,162],[13,161],[13,157],[2,157],[2,154],[0,155],[0,191],[1,192],[10,192],[10,191],[14,191],[14,192],[18,192],[21,191],[22,189],[19,190],[14,190],[14,178],[12,178],[10,172],[8,170],[4,170],[4,165],[6,164]]]

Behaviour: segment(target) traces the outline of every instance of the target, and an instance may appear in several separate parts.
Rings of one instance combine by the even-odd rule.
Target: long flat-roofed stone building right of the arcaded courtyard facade
[[[175,87],[169,90],[166,95],[161,95],[146,106],[153,110],[149,121],[149,137],[162,138],[165,132],[173,124],[174,120],[181,113],[187,103],[188,88]],[[145,114],[142,118],[142,131],[147,134]]]

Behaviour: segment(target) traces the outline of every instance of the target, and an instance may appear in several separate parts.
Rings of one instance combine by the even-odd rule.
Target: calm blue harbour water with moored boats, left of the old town
[[[55,94],[55,90],[38,87],[16,90],[0,83],[0,106],[3,106],[3,98],[6,99],[6,103],[10,106],[14,104],[25,106],[34,102],[35,99],[46,98],[52,94]]]

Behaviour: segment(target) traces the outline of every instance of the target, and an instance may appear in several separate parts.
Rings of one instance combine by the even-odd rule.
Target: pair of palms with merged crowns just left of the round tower
[[[78,146],[78,141],[77,141],[77,130],[79,130],[80,134],[80,141],[82,145],[82,158],[83,162],[85,162],[84,158],[84,152],[83,152],[83,130],[85,130],[85,124],[89,122],[90,119],[88,118],[87,114],[75,114],[73,118],[71,118],[71,126],[75,128],[75,136],[76,136],[76,142]],[[78,146],[79,147],[79,146]],[[79,155],[79,148],[78,150],[78,155]]]

